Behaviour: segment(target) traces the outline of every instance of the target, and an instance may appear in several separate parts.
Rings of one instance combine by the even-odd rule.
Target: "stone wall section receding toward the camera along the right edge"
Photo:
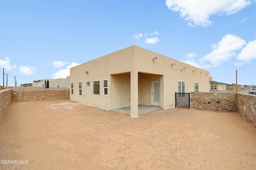
[[[256,127],[256,95],[237,94],[238,110],[237,112],[249,123]]]

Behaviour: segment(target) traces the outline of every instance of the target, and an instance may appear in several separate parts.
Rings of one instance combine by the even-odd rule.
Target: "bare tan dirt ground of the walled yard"
[[[12,102],[0,157],[5,170],[255,170],[256,128],[238,113],[175,108],[131,118],[70,100]]]

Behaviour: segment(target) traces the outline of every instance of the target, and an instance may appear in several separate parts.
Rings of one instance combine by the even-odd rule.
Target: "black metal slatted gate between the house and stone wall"
[[[190,108],[190,93],[176,93],[175,92],[175,107]]]

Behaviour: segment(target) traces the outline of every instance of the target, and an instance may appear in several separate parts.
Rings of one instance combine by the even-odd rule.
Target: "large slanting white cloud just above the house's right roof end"
[[[199,59],[199,61],[202,64],[210,62],[212,66],[220,66],[234,57],[236,55],[235,51],[242,49],[245,44],[246,41],[238,36],[226,35],[217,44],[212,44],[213,51]]]

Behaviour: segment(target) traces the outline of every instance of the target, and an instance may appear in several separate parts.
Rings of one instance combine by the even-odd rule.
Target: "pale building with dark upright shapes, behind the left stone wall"
[[[69,88],[69,85],[67,86],[66,78],[43,79],[38,83],[38,85],[42,88]]]

